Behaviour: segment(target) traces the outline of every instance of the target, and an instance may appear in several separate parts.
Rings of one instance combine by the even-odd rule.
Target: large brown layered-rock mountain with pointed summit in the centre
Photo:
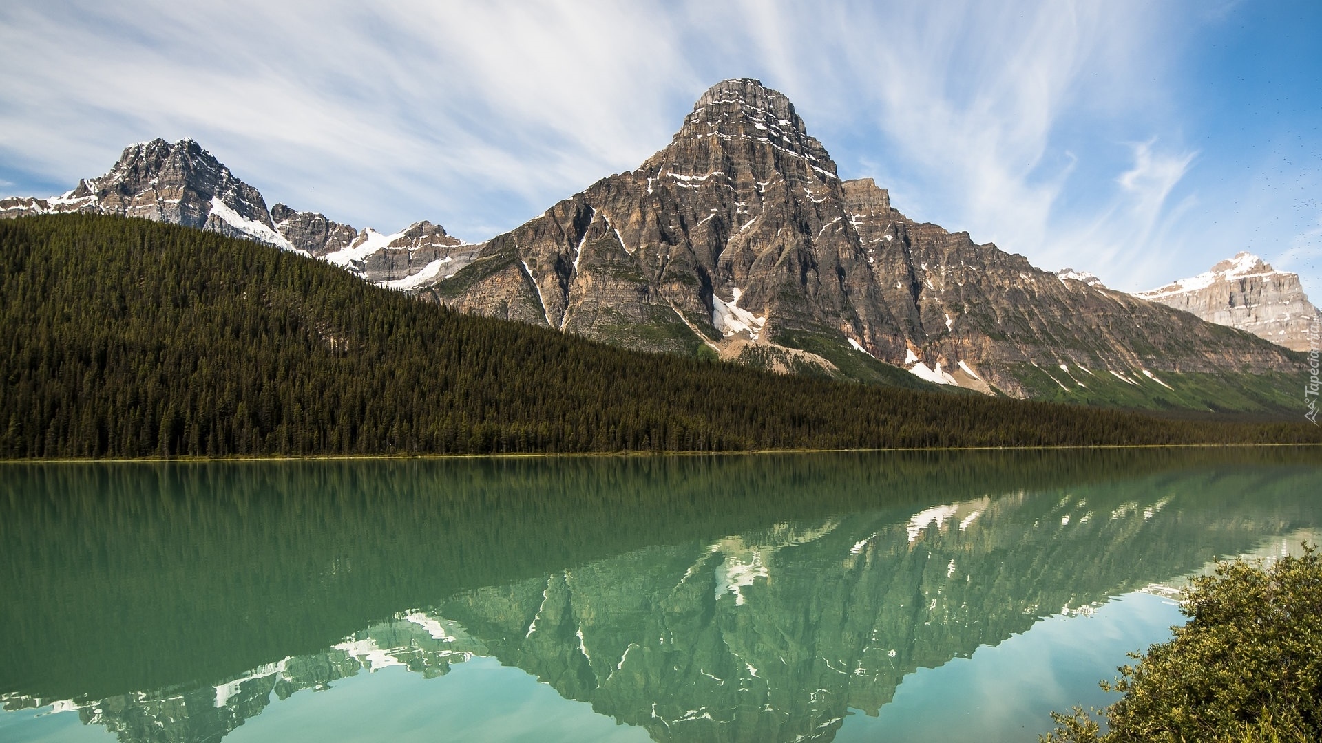
[[[1154,370],[1298,364],[1257,338],[907,218],[871,180],[842,181],[793,104],[754,79],[718,83],[640,168],[414,291],[645,350],[707,346],[755,366],[858,379],[890,365],[1015,397],[1059,386],[1084,401],[1089,382],[1166,394],[1175,383],[1158,387]]]

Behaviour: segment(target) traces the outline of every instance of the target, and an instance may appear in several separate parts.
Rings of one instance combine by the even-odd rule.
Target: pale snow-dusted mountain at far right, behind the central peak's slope
[[[1251,253],[1239,253],[1210,271],[1136,296],[1293,350],[1309,350],[1310,333],[1319,321],[1298,274],[1277,271]]]

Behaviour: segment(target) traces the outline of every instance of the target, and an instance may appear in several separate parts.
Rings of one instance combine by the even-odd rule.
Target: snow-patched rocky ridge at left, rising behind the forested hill
[[[263,242],[393,288],[408,288],[411,278],[432,278],[449,263],[463,264],[471,253],[444,227],[426,221],[383,235],[284,204],[267,210],[258,189],[192,139],[134,144],[108,173],[82,180],[62,196],[0,200],[0,217],[70,212],[140,217]]]

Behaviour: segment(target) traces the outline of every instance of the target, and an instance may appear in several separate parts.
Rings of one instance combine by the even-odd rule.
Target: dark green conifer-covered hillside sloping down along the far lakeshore
[[[1318,442],[777,377],[448,312],[173,225],[0,221],[0,456]]]

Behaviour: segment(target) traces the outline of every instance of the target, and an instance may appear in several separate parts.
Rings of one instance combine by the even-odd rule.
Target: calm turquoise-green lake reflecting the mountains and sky
[[[1317,450],[0,465],[0,740],[1035,740]]]

